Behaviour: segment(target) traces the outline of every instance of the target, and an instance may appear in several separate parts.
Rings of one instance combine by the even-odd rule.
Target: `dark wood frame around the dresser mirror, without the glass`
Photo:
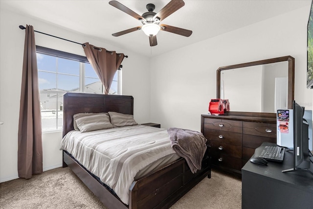
[[[245,68],[249,66],[257,66],[257,65],[264,65],[270,63],[277,63],[277,62],[284,62],[288,61],[288,109],[292,109],[292,101],[294,100],[294,58],[291,56],[285,57],[277,57],[267,60],[259,60],[255,62],[237,64],[237,65],[230,65],[221,67],[217,70],[217,80],[216,80],[216,97],[220,98],[221,96],[221,71],[223,70],[232,70],[238,68]],[[231,102],[231,101],[230,101]],[[268,113],[257,113],[257,115],[267,115]],[[271,114],[271,113],[269,113]],[[275,114],[275,113],[274,113]],[[276,115],[276,114],[275,114]]]

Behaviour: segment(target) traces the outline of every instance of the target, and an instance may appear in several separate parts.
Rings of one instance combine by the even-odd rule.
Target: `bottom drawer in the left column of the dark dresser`
[[[223,155],[221,153],[212,153],[212,164],[240,171],[242,168],[242,159]]]

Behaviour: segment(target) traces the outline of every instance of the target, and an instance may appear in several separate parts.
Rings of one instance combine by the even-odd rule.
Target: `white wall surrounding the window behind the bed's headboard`
[[[42,22],[10,11],[0,12],[0,182],[18,178],[18,123],[20,111],[22,59],[25,30],[19,25],[30,24],[35,30],[69,39],[78,43],[116,50],[128,55],[122,65],[122,93],[134,96],[134,118],[138,123],[150,122],[150,60],[134,52],[112,46],[105,41],[95,40],[66,28]],[[35,33],[36,45],[69,53],[83,55],[82,46]],[[59,150],[61,132],[43,134],[44,170],[62,166]]]

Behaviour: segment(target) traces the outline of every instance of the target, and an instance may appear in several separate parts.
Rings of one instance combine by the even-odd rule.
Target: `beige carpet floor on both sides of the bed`
[[[106,209],[67,168],[0,184],[0,209]],[[213,170],[171,209],[241,209],[241,180]]]

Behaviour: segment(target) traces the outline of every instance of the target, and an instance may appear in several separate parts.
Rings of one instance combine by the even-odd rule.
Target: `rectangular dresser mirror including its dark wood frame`
[[[291,56],[217,70],[217,98],[228,99],[231,112],[276,113],[277,109],[292,109],[293,93]]]

